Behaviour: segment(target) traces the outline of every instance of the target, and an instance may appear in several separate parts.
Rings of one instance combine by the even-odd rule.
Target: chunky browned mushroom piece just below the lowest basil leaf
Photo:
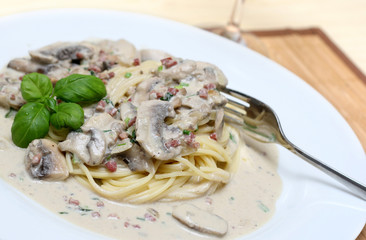
[[[35,139],[25,155],[26,169],[37,179],[64,180],[69,176],[65,156],[57,144],[48,139]]]

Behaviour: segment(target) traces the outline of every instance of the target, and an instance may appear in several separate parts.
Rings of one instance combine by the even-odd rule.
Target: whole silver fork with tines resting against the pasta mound
[[[282,145],[306,162],[347,186],[355,195],[366,200],[365,185],[315,159],[291,143],[286,138],[276,113],[267,104],[229,88],[220,88],[219,90],[245,103],[244,105],[229,99],[229,103],[225,107],[225,120],[240,124],[250,137],[258,141]]]

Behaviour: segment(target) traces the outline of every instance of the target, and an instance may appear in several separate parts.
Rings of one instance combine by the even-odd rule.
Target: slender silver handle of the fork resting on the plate
[[[287,149],[289,149],[291,152],[295,153],[297,156],[304,159],[306,162],[310,163],[314,167],[318,168],[322,172],[326,173],[327,175],[331,176],[338,182],[342,183],[346,187],[348,187],[349,190],[352,191],[355,195],[363,198],[366,200],[366,186],[347,177],[346,175],[342,174],[341,172],[329,167],[325,163],[315,159],[314,157],[310,156],[309,154],[305,153],[301,149],[299,149],[297,146],[295,146],[292,143],[289,143],[290,146],[285,146]]]

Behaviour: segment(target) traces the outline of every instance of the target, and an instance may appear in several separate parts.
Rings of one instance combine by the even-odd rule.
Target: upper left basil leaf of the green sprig
[[[27,102],[43,101],[52,94],[51,80],[40,73],[29,73],[23,77],[20,85],[23,98]]]

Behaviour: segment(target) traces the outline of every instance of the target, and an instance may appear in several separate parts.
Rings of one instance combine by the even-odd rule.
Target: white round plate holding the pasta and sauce
[[[124,12],[59,9],[0,19],[0,65],[56,41],[124,38],[138,48],[219,66],[229,86],[256,96],[280,116],[289,139],[329,165],[366,183],[365,153],[340,114],[301,79],[226,39],[200,29]],[[326,69],[324,69],[326,71]],[[366,201],[284,149],[283,193],[274,217],[242,239],[354,239],[366,220]],[[0,181],[0,239],[100,239],[73,226]],[[44,227],[47,226],[47,227]]]

